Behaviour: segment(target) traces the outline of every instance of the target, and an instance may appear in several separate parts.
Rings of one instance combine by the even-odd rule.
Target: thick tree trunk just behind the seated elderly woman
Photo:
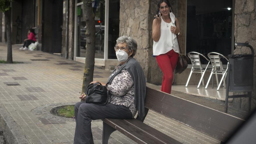
[[[94,58],[95,58],[95,20],[92,8],[92,0],[83,0],[84,16],[86,20],[86,60],[83,71],[82,93],[85,93],[87,86],[93,81]]]

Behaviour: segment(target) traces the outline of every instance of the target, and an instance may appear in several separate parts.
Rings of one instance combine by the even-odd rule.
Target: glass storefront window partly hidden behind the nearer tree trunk
[[[77,1],[79,2],[79,1]],[[95,14],[95,58],[104,58],[104,30],[105,30],[105,1],[92,2]],[[86,22],[83,5],[77,6],[77,57],[85,57],[86,54]]]

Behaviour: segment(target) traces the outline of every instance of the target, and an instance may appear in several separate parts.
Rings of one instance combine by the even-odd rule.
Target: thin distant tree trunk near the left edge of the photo
[[[7,35],[7,63],[13,63],[10,10],[4,12]]]

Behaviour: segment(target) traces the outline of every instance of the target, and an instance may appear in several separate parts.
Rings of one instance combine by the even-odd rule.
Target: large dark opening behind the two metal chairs
[[[188,0],[186,53],[232,53],[232,0]]]

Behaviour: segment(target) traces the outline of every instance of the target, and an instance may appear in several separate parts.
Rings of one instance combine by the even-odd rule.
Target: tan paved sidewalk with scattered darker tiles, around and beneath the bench
[[[6,56],[7,46],[0,43],[0,59],[6,60]],[[23,63],[0,64],[0,106],[8,111],[31,143],[73,143],[74,119],[51,115],[49,111],[79,101],[84,64],[42,51],[21,51],[16,45],[13,46],[13,61]],[[110,74],[110,71],[95,68],[94,80],[106,82]],[[8,86],[13,84],[17,85]],[[148,86],[160,89],[152,84]],[[198,99],[177,91],[172,94],[202,104],[207,102],[210,107],[222,109],[220,103],[215,104],[202,97]],[[220,143],[153,111],[149,111],[145,123],[182,143]],[[94,142],[102,143],[101,120],[92,121],[92,132]],[[135,142],[115,131],[109,143]]]

